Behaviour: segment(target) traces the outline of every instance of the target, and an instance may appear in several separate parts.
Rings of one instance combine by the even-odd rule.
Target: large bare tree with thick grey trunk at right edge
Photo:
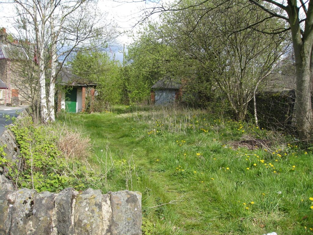
[[[232,0],[219,1],[194,1],[187,5],[180,5],[181,1],[175,2],[168,6],[154,5],[144,11],[141,21],[146,20],[152,14],[160,14],[164,12],[179,12],[185,9],[193,11],[203,10],[199,13],[198,18],[202,18],[224,4],[232,4]],[[262,9],[265,15],[258,22],[253,22],[245,26],[245,29],[256,29],[260,23],[267,22],[271,18],[284,20],[287,24],[285,27],[268,28],[262,30],[264,34],[280,34],[286,31],[291,32],[293,50],[295,54],[296,68],[296,126],[301,139],[312,137],[313,132],[313,111],[312,111],[312,84],[313,84],[313,0],[304,2],[303,0],[248,0],[247,3],[252,3]],[[206,3],[211,3],[207,4]],[[303,13],[301,13],[301,11]],[[224,8],[227,12],[227,8]],[[249,19],[249,18],[247,18]],[[212,19],[214,21],[214,19]],[[239,29],[241,30],[241,29]]]

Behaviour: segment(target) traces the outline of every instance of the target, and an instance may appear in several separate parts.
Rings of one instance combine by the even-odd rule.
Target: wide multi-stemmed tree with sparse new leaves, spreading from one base
[[[271,78],[288,46],[283,34],[263,34],[260,31],[284,25],[272,18],[258,23],[266,13],[244,1],[224,3],[216,9],[211,2],[203,3],[197,9],[188,8],[189,4],[190,1],[179,1],[177,7],[182,10],[163,15],[162,25],[154,27],[157,33],[148,37],[155,41],[151,54],[157,54],[157,44],[171,48],[183,61],[180,67],[189,68],[189,71],[183,71],[188,74],[184,78],[188,87],[198,84],[201,79],[202,86],[197,85],[193,91],[198,98],[204,92],[211,95],[218,88],[236,118],[242,120],[257,88]],[[211,10],[207,12],[206,9]],[[250,24],[256,24],[255,28],[247,29]],[[147,52],[141,51],[139,55],[146,58]],[[138,60],[134,58],[134,64]],[[173,65],[173,59],[170,60],[169,64]],[[171,67],[164,66],[164,73]],[[178,69],[172,71],[176,75],[182,74]],[[257,118],[255,120],[257,122]]]

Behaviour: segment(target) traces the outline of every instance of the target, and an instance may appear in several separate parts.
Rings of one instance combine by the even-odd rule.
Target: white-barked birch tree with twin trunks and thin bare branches
[[[55,81],[68,56],[86,43],[102,47],[115,32],[102,21],[93,0],[16,0],[17,13],[36,50],[40,114],[45,123],[54,121]]]

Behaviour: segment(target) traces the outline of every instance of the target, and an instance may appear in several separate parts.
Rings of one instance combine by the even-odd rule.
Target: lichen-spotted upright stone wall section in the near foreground
[[[141,194],[0,190],[0,235],[139,235]]]

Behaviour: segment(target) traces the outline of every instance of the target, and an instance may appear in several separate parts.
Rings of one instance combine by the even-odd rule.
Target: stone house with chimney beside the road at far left
[[[0,29],[0,79],[6,88],[0,87],[0,104],[29,104],[30,89],[25,86],[23,67],[29,60],[24,48],[17,40],[8,42],[6,29]]]

